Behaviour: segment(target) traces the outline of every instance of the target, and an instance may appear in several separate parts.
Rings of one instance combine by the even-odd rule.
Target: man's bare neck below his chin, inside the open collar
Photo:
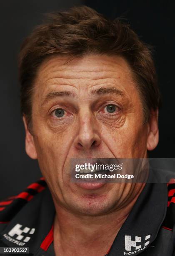
[[[101,255],[112,245],[117,233],[132,210],[142,184],[135,197],[124,207],[100,216],[77,215],[60,207],[55,200],[54,250],[55,255]]]

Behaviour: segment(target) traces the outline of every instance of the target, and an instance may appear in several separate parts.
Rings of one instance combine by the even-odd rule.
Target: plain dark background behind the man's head
[[[16,195],[41,177],[37,161],[25,153],[20,116],[17,58],[25,36],[43,13],[87,5],[109,18],[125,17],[140,38],[154,46],[163,108],[160,142],[153,158],[175,158],[175,1],[173,0],[2,0],[0,5],[0,199]]]

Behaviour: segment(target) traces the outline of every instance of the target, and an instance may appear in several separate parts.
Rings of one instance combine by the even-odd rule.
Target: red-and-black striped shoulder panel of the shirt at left
[[[7,197],[0,201],[0,231],[4,229],[7,223],[9,223],[29,201],[46,187],[47,184],[42,177],[30,184],[18,195]]]

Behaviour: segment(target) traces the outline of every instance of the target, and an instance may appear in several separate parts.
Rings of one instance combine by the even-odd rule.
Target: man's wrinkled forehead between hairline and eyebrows
[[[90,54],[70,60],[52,56],[39,67],[35,92],[40,98],[54,90],[73,90],[75,94],[90,92],[94,87],[117,87],[124,92],[136,91],[133,74],[120,56]]]

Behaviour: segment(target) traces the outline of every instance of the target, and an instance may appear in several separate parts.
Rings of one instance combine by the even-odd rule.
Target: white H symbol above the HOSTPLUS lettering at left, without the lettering
[[[16,239],[18,240],[22,240],[24,238],[23,235],[21,235],[22,233],[28,233],[30,228],[25,227],[24,229],[20,229],[22,227],[22,225],[20,224],[16,224],[15,227],[13,227],[10,231],[9,231],[9,236],[13,237],[14,235],[18,235],[16,237]],[[33,234],[35,232],[35,228],[31,228],[29,234]],[[24,242],[28,242],[30,240],[30,236],[26,236],[25,239],[23,240]]]

